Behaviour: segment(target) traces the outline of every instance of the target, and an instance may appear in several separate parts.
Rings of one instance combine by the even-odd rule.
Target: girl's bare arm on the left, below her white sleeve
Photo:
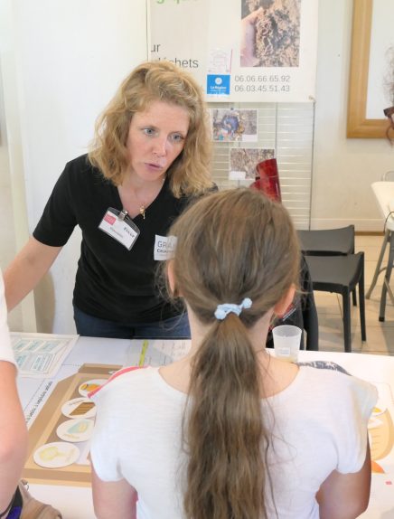
[[[98,519],[136,519],[136,489],[126,479],[102,481],[91,467],[94,512]]]

